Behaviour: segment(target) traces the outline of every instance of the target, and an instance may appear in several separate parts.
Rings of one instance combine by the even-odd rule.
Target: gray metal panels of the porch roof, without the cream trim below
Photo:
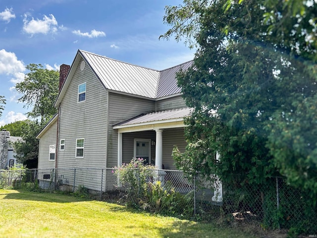
[[[192,108],[182,108],[170,111],[162,111],[158,113],[142,114],[138,117],[122,121],[120,123],[114,124],[113,126],[119,125],[132,125],[140,124],[145,122],[172,120],[172,119],[183,119],[191,114]]]

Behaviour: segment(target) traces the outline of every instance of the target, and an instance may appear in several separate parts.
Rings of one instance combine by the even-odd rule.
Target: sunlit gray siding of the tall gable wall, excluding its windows
[[[77,103],[78,85],[86,82],[86,101]],[[107,92],[86,64],[80,62],[60,104],[58,168],[105,168],[107,143]],[[75,158],[76,139],[84,138],[84,158]]]

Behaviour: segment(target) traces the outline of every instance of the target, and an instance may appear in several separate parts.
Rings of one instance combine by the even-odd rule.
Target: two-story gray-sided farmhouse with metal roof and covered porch
[[[134,157],[176,169],[172,149],[185,149],[191,112],[176,73],[191,64],[154,70],[78,50],[60,66],[58,113],[37,136],[38,169],[113,168]]]

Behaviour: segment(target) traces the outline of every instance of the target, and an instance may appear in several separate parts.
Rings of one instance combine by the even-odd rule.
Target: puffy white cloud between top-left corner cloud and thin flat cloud
[[[50,17],[44,15],[43,20],[34,20],[33,17],[32,20],[28,20],[27,17],[28,16],[25,14],[23,19],[23,30],[28,34],[48,34],[50,32],[55,33],[57,31],[57,21],[53,14],[50,14]]]

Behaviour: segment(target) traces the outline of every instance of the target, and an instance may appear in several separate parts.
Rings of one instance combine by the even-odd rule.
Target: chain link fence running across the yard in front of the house
[[[186,217],[252,223],[263,229],[287,229],[294,234],[317,234],[317,198],[287,185],[283,178],[270,178],[265,185],[241,186],[206,181],[199,174],[186,176],[176,170],[154,173],[156,176],[141,184],[147,190],[146,195],[139,197],[144,209],[168,211],[168,214],[177,210]],[[156,181],[160,182],[159,186]],[[120,182],[113,168],[0,171],[0,188],[24,186],[70,192],[84,186],[100,200],[131,199],[129,184]]]

